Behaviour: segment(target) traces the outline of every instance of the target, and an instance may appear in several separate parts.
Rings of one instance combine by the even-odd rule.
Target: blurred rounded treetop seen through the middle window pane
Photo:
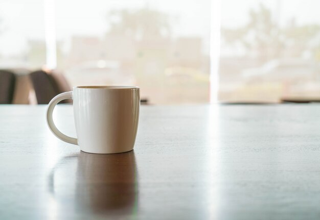
[[[108,14],[110,34],[125,34],[135,40],[170,37],[169,16],[149,7],[137,10],[113,10]]]

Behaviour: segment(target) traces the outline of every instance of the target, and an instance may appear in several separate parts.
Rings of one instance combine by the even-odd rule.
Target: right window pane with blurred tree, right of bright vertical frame
[[[220,101],[320,99],[320,2],[221,4]]]

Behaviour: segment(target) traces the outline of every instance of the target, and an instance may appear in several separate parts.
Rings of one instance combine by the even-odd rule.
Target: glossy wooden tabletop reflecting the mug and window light
[[[319,219],[320,105],[142,106],[134,151],[58,140],[0,106],[0,219]],[[57,127],[75,136],[72,106]]]

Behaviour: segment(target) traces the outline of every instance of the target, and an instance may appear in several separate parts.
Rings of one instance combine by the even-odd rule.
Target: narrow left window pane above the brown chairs
[[[45,64],[43,0],[0,1],[0,69]]]

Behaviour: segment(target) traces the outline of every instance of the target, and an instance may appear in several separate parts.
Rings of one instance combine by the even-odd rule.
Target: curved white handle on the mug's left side
[[[56,107],[56,105],[62,101],[67,99],[72,99],[72,91],[71,92],[63,92],[61,94],[56,95],[49,103],[47,108],[47,125],[50,128],[51,132],[60,140],[63,140],[67,143],[72,143],[78,145],[78,139],[66,136],[65,134],[62,134],[56,127],[56,125],[53,122],[52,113],[53,109]]]

